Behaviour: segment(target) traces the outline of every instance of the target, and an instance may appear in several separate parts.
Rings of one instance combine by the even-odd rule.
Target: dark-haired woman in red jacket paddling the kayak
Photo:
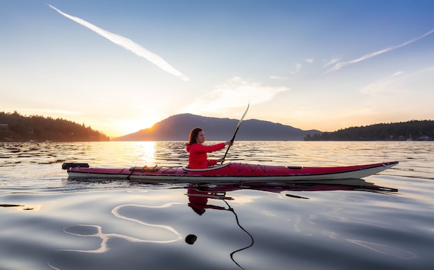
[[[190,153],[190,169],[206,169],[209,166],[216,165],[218,162],[225,161],[224,159],[208,159],[207,153],[222,150],[229,143],[232,145],[231,141],[216,145],[202,145],[202,143],[205,143],[205,132],[200,127],[191,129],[189,143],[186,144],[187,152]]]

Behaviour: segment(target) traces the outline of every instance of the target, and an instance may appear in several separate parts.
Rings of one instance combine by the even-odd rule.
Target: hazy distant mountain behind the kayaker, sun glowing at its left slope
[[[214,118],[194,114],[177,114],[170,116],[153,127],[138,132],[112,138],[111,141],[188,141],[190,130],[201,127],[207,141],[227,141],[232,138],[238,120]],[[237,141],[303,141],[310,134],[319,130],[302,130],[288,125],[263,120],[244,120],[238,133]]]

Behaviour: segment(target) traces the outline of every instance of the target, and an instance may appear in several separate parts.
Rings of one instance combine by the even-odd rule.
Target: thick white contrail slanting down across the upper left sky
[[[89,22],[87,22],[83,19],[80,19],[78,17],[73,17],[67,13],[64,13],[61,10],[58,10],[57,8],[55,8],[54,6],[51,6],[49,4],[47,4],[47,6],[49,6],[50,8],[53,8],[53,10],[59,12],[64,17],[67,17],[73,21],[76,21],[78,24],[81,24],[82,26],[86,26],[87,28],[89,28],[90,30],[93,30],[97,34],[102,35],[103,37],[105,37],[106,39],[109,39],[114,44],[118,44],[119,46],[127,49],[128,51],[131,51],[132,53],[139,55],[140,57],[144,57],[146,60],[156,64],[157,66],[159,66],[159,68],[163,69],[164,71],[167,71],[168,73],[171,73],[171,74],[179,77],[181,80],[185,80],[185,81],[190,80],[185,75],[180,73],[180,71],[177,71],[173,66],[168,64],[168,62],[164,61],[164,59],[162,57],[159,57],[155,53],[152,53],[152,52],[146,50],[146,48],[133,42],[131,39],[110,33],[109,31],[101,29],[98,26],[94,26],[93,24],[90,24]]]

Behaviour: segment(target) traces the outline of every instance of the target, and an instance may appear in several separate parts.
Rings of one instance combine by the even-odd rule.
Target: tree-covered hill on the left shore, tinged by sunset
[[[85,124],[79,125],[62,118],[22,116],[0,112],[0,141],[110,141],[105,134]]]

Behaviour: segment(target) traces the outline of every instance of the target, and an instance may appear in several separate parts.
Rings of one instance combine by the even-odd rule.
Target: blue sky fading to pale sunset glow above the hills
[[[175,114],[239,119],[249,102],[245,120],[322,132],[433,120],[433,13],[431,0],[0,0],[0,111],[112,138]]]

